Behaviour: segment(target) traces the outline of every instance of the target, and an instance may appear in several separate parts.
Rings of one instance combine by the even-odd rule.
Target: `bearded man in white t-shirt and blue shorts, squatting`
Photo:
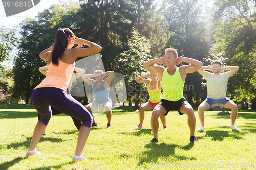
[[[206,79],[207,85],[207,98],[198,107],[198,116],[201,126],[197,129],[203,131],[204,128],[204,111],[210,108],[220,107],[221,109],[227,108],[231,110],[231,126],[232,130],[241,130],[234,125],[234,122],[238,116],[238,106],[226,97],[228,78],[236,74],[239,70],[238,66],[221,67],[220,61],[214,61],[211,63],[211,67],[202,66],[198,72]],[[210,73],[205,70],[211,70]],[[229,70],[227,72],[221,72],[223,70]]]

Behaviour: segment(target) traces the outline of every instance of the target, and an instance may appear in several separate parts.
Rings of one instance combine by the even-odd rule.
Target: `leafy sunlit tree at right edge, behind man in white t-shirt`
[[[215,2],[215,34],[217,53],[226,65],[240,67],[229,80],[227,93],[234,101],[253,100],[256,95],[256,13],[255,1],[227,0]],[[255,106],[256,103],[253,103]],[[254,108],[256,109],[256,108]]]

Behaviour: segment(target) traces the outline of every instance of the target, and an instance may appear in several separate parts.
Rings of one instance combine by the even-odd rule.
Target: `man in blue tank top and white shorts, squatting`
[[[86,74],[82,75],[82,79],[91,84],[93,87],[93,93],[95,100],[88,104],[86,106],[87,110],[92,114],[92,112],[96,112],[99,110],[104,109],[106,112],[106,118],[108,119],[107,128],[112,127],[111,125],[111,118],[112,118],[112,101],[109,98],[109,91],[110,91],[110,82],[114,78],[114,71],[106,71],[103,72],[102,70],[96,70],[94,71],[94,74]],[[103,80],[104,76],[108,76],[106,79]],[[92,77],[96,78],[96,81],[94,79],[90,79]],[[92,114],[93,116],[93,114]],[[94,120],[93,116],[93,125],[92,126],[98,126],[97,123]]]

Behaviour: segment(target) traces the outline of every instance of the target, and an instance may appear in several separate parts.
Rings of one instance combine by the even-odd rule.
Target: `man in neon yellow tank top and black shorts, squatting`
[[[159,62],[167,67],[155,65]],[[179,65],[182,62],[189,63],[189,65],[176,67],[176,64]],[[155,58],[143,63],[145,69],[158,74],[164,93],[164,99],[161,100],[152,112],[151,127],[154,137],[150,143],[158,142],[158,117],[167,115],[171,110],[177,110],[179,114],[187,115],[187,124],[190,130],[189,140],[190,142],[199,142],[195,136],[196,116],[191,105],[183,97],[183,87],[186,75],[197,71],[201,66],[201,61],[187,57],[178,57],[178,53],[174,48],[166,48],[164,57]]]

